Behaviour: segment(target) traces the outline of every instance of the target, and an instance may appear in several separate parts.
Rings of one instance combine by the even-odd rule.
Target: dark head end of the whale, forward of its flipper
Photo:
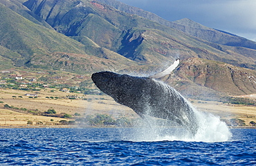
[[[147,77],[129,76],[114,72],[96,72],[92,74],[93,83],[105,94],[123,105],[138,101],[141,91],[145,90],[145,84],[151,79]]]

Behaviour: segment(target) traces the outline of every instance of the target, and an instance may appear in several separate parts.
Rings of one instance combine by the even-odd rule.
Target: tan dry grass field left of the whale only
[[[129,118],[138,117],[133,110],[129,107],[125,107],[113,101],[109,96],[99,95],[83,95],[66,93],[53,89],[46,89],[40,92],[37,98],[28,98],[25,96],[28,92],[21,90],[0,90],[0,125],[6,126],[21,126],[26,125],[28,121],[34,123],[41,121],[42,123],[54,123],[64,118],[55,118],[50,116],[35,116],[33,114],[24,114],[16,112],[15,110],[6,110],[3,105],[8,104],[17,108],[26,108],[28,110],[39,110],[39,112],[46,112],[48,109],[54,109],[57,114],[80,114],[81,116],[94,115],[94,114],[109,114],[113,118],[120,118],[122,116]],[[29,92],[29,94],[35,94],[35,92]],[[80,99],[63,99],[65,96],[77,96],[86,98],[86,100]],[[13,97],[16,96],[16,97]],[[19,98],[17,96],[22,96]],[[46,98],[46,96],[58,97],[57,99]],[[53,119],[53,122],[51,122]],[[69,119],[68,119],[69,120]],[[72,119],[70,119],[72,120]]]

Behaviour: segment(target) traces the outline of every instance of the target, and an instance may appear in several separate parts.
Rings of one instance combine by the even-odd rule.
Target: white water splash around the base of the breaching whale
[[[134,128],[133,134],[128,137],[126,135],[126,138],[129,141],[196,141],[208,143],[230,141],[232,134],[226,123],[221,121],[218,116],[208,112],[200,112],[189,101],[186,100],[186,102],[196,116],[194,122],[198,125],[196,134],[192,135],[188,129],[177,123],[173,122],[170,126],[170,121],[165,121],[159,125],[157,118],[145,116],[144,124],[139,128]]]

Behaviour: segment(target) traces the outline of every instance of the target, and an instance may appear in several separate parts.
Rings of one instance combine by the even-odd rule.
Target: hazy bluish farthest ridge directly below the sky
[[[152,12],[147,12],[140,8],[136,8],[133,6],[128,6],[125,3],[121,3],[120,1],[116,0],[98,0],[102,3],[105,3],[109,6],[113,6],[118,10],[123,12],[127,12],[130,14],[136,14],[140,17],[145,19],[149,19],[151,21],[156,21],[162,25],[166,25],[170,28],[174,28],[176,30],[180,30],[189,34],[193,37],[199,37],[205,41],[210,41],[212,43],[217,43],[221,45],[228,45],[228,46],[237,46],[237,47],[244,47],[244,48],[251,48],[256,49],[256,42],[250,41],[245,39],[244,37],[239,37],[235,34],[230,34],[228,32],[224,32],[221,30],[215,30],[213,28],[208,28],[200,23],[196,23],[190,19],[184,18],[177,21],[167,21],[161,17],[158,17],[156,14]]]

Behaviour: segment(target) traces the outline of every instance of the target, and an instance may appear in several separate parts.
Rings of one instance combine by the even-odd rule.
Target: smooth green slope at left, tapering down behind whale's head
[[[22,17],[20,14],[3,6],[1,3],[0,19],[0,45],[2,48],[0,55],[8,59],[8,61],[13,62],[8,63],[9,66],[26,65],[36,68],[53,68],[78,72],[81,70],[81,65],[77,65],[77,63],[86,61],[86,59],[95,60],[89,63],[89,65],[100,62],[102,66],[100,68],[86,68],[81,71],[98,71],[103,68],[105,68],[105,70],[116,70],[118,68],[127,67],[127,65],[136,65],[133,61],[129,61],[129,59],[125,59],[125,57],[115,52],[100,48],[90,39],[81,39],[84,41],[84,44],[77,42],[70,37],[66,37],[64,34],[56,32],[53,28],[46,28],[40,25],[40,23],[34,23]],[[62,54],[66,52],[74,56],[73,61],[69,59],[69,63],[73,64],[72,67],[60,65],[62,64],[60,58],[55,56],[57,52],[62,52]],[[80,54],[84,56],[80,56]],[[95,57],[92,54],[97,54],[99,57]],[[100,56],[104,58],[100,58]],[[114,60],[109,60],[110,56],[113,56]],[[51,61],[49,61],[49,59],[51,59]],[[80,61],[75,59],[79,59]],[[88,63],[88,61],[86,62]],[[57,65],[58,63],[60,64]]]

